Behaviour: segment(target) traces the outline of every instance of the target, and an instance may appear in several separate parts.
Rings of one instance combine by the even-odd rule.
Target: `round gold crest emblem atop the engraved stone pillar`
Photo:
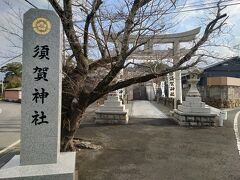
[[[51,31],[52,25],[48,19],[40,17],[33,21],[32,27],[37,34],[46,35]]]

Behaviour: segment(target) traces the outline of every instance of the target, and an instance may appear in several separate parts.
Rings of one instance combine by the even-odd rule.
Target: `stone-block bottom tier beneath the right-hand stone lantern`
[[[183,113],[174,109],[172,116],[180,126],[203,127],[217,125],[217,114]]]

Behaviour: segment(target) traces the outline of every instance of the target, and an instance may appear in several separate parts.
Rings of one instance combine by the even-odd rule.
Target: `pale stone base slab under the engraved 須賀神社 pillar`
[[[75,152],[60,153],[56,164],[20,166],[20,156],[14,156],[0,169],[4,180],[73,180],[75,179]]]

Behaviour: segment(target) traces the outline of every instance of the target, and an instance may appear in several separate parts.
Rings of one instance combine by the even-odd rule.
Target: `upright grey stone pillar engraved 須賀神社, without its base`
[[[23,28],[21,139],[26,141],[21,142],[20,162],[56,163],[62,94],[60,19],[53,11],[30,10]]]

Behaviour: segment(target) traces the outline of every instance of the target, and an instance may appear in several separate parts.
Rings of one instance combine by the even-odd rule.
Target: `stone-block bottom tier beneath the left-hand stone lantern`
[[[96,111],[96,124],[127,124],[128,111],[123,112],[100,112]]]

